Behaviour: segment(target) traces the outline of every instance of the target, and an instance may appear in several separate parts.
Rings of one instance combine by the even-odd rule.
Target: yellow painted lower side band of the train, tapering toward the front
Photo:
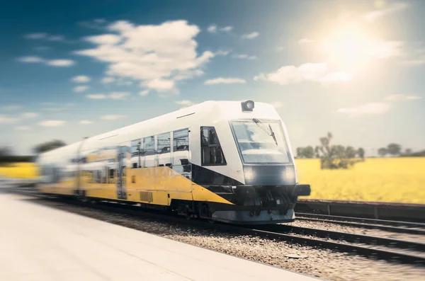
[[[106,176],[106,179],[96,182],[91,174],[81,172],[81,189],[85,190],[87,197],[123,200],[118,199],[116,175]],[[194,200],[234,205],[169,167],[126,168],[123,182],[127,190],[127,199],[124,201],[164,206],[171,205],[171,200]],[[60,183],[42,184],[38,188],[42,193],[72,195],[75,186],[77,186],[77,178],[68,178]]]

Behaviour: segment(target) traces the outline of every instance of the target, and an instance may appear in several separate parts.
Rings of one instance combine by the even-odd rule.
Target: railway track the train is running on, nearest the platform
[[[96,210],[112,212],[115,214],[126,214],[132,217],[143,217],[146,219],[158,219],[161,222],[168,222],[171,224],[189,224],[204,229],[213,229],[215,231],[223,231],[231,234],[259,236],[266,239],[276,239],[278,241],[288,241],[290,243],[297,243],[302,246],[326,248],[332,251],[360,255],[368,258],[388,260],[397,263],[425,265],[425,246],[423,243],[398,241],[396,239],[385,239],[358,234],[346,234],[336,231],[325,231],[322,229],[308,229],[304,227],[287,226],[282,224],[254,227],[234,226],[228,224],[210,224],[209,222],[205,222],[199,219],[184,219],[181,217],[171,216],[169,214],[141,210],[138,206],[125,205],[118,202],[97,201],[96,204],[90,204],[89,202],[81,202],[78,200],[45,197],[28,190],[13,190],[13,192],[39,198],[35,200],[56,200],[58,202],[64,202],[82,207],[91,207]],[[293,234],[288,233],[290,231],[292,231]],[[309,237],[307,237],[307,235],[309,235]],[[336,240],[324,240],[324,238]],[[351,243],[345,243],[347,241],[351,241]],[[365,243],[365,245],[356,245],[353,243],[353,241],[356,241],[357,243]],[[392,245],[393,248],[397,249],[375,247],[377,245],[388,246],[387,243]],[[399,251],[400,248],[409,248],[411,251],[402,252]],[[417,253],[412,253],[413,251],[416,251]]]

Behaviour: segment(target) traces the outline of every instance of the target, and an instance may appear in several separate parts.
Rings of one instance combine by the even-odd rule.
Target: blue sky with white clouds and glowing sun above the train
[[[296,147],[425,149],[425,1],[8,1],[0,147],[203,101],[271,103]]]

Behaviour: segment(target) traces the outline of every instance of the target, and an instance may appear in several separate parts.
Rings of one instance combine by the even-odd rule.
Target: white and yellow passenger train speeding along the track
[[[293,222],[287,128],[273,105],[205,101],[38,156],[39,193],[124,202],[227,224]]]

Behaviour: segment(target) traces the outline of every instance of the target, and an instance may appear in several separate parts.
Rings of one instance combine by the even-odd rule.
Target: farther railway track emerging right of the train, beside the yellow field
[[[326,214],[296,213],[297,220],[309,222],[329,222],[345,226],[354,226],[364,229],[380,229],[384,231],[422,234],[425,235],[425,224],[416,222],[399,222],[383,219],[363,219],[356,217],[329,216]]]

